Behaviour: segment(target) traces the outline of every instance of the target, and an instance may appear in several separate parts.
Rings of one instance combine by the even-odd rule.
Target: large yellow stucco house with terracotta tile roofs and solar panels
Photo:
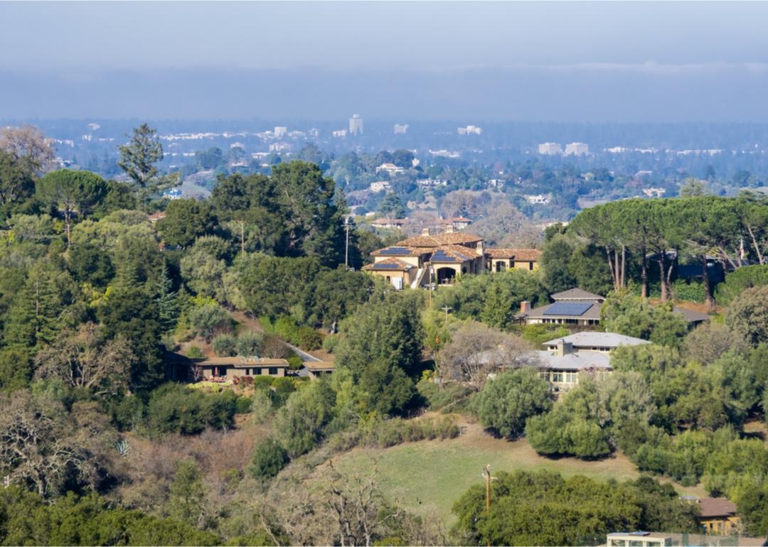
[[[541,252],[536,249],[485,249],[482,237],[452,230],[403,239],[371,253],[373,264],[366,272],[386,278],[396,288],[416,288],[432,282],[452,283],[463,274],[538,269]]]

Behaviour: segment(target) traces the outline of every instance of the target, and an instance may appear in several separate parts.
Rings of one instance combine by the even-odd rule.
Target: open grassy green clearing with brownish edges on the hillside
[[[355,449],[333,459],[337,469],[348,473],[376,465],[379,488],[390,500],[399,500],[422,515],[434,515],[446,526],[454,517],[451,506],[469,486],[482,483],[482,470],[491,465],[492,474],[512,470],[551,470],[564,476],[585,475],[593,479],[627,480],[639,476],[637,468],[619,453],[606,460],[584,462],[575,458],[549,460],[539,456],[525,440],[494,439],[475,423],[466,425],[461,437],[443,441],[422,441],[384,450]],[[322,479],[327,466],[314,473]],[[680,493],[702,495],[700,489],[675,485]]]

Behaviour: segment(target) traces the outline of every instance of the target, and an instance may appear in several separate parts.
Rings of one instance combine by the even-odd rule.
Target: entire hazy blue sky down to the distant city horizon
[[[768,119],[766,2],[0,2],[0,21],[3,117]]]

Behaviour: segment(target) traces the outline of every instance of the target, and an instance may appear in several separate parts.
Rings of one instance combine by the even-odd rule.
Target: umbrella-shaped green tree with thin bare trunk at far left
[[[64,213],[67,246],[71,245],[73,213],[84,217],[107,195],[108,186],[101,176],[90,171],[60,169],[43,176],[38,183],[38,196]]]

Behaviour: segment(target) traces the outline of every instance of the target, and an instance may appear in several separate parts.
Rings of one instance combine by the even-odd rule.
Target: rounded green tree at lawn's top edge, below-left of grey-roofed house
[[[502,372],[472,402],[483,426],[508,438],[520,436],[528,417],[547,412],[552,397],[547,381],[531,367]]]

